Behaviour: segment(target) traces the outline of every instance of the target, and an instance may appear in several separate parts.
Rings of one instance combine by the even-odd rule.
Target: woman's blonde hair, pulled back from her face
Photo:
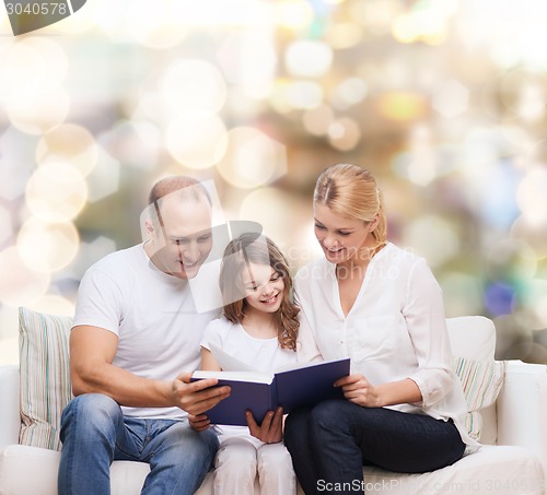
[[[379,215],[372,236],[379,246],[387,243],[387,222],[382,191],[370,172],[357,165],[331,165],[319,175],[313,200],[337,215],[371,222]]]

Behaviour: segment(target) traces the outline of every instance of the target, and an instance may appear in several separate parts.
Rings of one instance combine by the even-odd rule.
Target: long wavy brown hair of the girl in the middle
[[[241,275],[243,270],[248,269],[248,263],[269,264],[283,279],[283,298],[274,318],[279,345],[295,351],[300,308],[292,300],[289,263],[276,244],[266,236],[245,233],[226,246],[220,268],[220,291],[224,300],[224,316],[233,323],[241,323],[245,317],[247,302]]]

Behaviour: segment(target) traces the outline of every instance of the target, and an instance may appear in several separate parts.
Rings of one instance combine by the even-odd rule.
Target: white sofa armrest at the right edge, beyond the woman
[[[497,412],[498,444],[525,447],[547,473],[547,366],[508,361]]]

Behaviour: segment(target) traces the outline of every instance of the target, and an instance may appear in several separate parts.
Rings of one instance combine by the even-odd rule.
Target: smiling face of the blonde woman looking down
[[[325,204],[314,203],[315,237],[331,263],[369,259],[368,250],[375,246],[371,232],[377,221],[371,222],[341,216]]]

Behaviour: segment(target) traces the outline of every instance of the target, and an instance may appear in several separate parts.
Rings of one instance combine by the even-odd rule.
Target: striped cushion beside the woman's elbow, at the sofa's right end
[[[482,416],[480,410],[496,402],[503,384],[505,363],[493,360],[469,360],[456,357],[454,370],[462,381],[467,414],[465,425],[469,435],[476,440],[480,439]]]

